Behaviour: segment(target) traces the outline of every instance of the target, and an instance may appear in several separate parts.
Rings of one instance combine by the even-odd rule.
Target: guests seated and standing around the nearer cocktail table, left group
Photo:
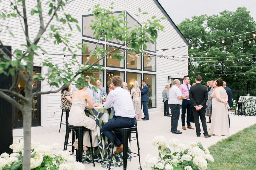
[[[93,85],[90,83],[90,76],[86,76],[88,82],[86,86],[77,89],[73,87],[72,94],[70,92],[71,85],[61,91],[61,109],[68,112],[68,124],[73,126],[84,126],[92,130],[92,145],[98,146],[97,139],[97,127],[94,119],[87,117],[84,114],[85,108],[92,109],[99,107],[99,104],[93,103],[93,98],[106,95],[106,89],[101,86],[101,80],[97,79],[97,91],[93,90]],[[138,81],[134,81],[134,85],[128,90],[127,83],[123,82],[120,76],[114,76],[109,84],[109,93],[107,100],[104,103],[106,109],[113,108],[113,118],[106,124],[102,125],[101,132],[113,142],[114,134],[113,130],[116,127],[131,127],[135,124],[136,120],[142,118],[141,103],[143,106],[143,112],[145,117],[142,120],[149,120],[148,117],[148,101],[149,101],[149,88],[146,84],[146,80],[141,82],[142,88],[139,86]],[[89,132],[84,133],[83,150],[87,150],[91,147],[89,140]],[[122,135],[118,134],[115,138],[115,144],[117,149],[114,153],[121,152],[123,150]],[[78,141],[76,140],[73,146],[78,148]]]

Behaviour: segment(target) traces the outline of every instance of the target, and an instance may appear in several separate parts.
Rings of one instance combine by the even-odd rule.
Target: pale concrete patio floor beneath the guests
[[[171,117],[164,117],[164,114],[161,112],[154,112],[149,113],[149,121],[138,121],[138,133],[139,133],[139,145],[140,145],[140,159],[141,163],[144,162],[144,159],[147,154],[151,154],[153,156],[158,156],[157,148],[152,145],[152,140],[155,136],[161,135],[166,138],[167,141],[171,140],[172,138],[176,138],[180,140],[180,143],[188,145],[190,142],[202,142],[205,146],[210,146],[221,139],[227,138],[225,136],[217,137],[212,136],[211,138],[204,138],[204,135],[201,134],[200,138],[196,137],[196,129],[191,130],[182,130],[181,129],[181,118],[179,119],[178,123],[178,130],[182,132],[182,134],[172,134],[170,133],[170,124],[171,124]],[[256,117],[252,116],[235,116],[229,112],[230,116],[230,135],[235,134],[238,131],[243,130],[244,128],[251,126],[252,124],[256,124]],[[209,118],[207,117],[206,120],[208,121]],[[200,123],[201,124],[201,123]],[[194,123],[191,123],[192,127],[195,127]],[[211,124],[207,124],[207,128],[210,128]],[[44,145],[49,145],[54,142],[60,143],[61,146],[64,144],[65,138],[65,126],[61,126],[61,131],[59,131],[59,125],[56,126],[45,126],[45,127],[33,127],[31,129],[31,138],[35,142],[40,142]],[[201,128],[201,132],[203,130]],[[14,136],[23,136],[23,129],[14,129],[13,130]],[[71,135],[72,136],[72,135]],[[17,142],[17,140],[14,140]],[[71,147],[70,147],[71,148]],[[132,141],[131,149],[134,152],[137,152],[137,144],[136,141]],[[60,149],[61,150],[61,149]],[[57,151],[58,152],[58,151]],[[100,163],[95,163],[95,167],[92,164],[85,164],[84,165],[86,170],[104,170],[100,166]],[[128,170],[136,170],[139,167],[139,159],[138,157],[132,158],[131,162],[127,163]],[[123,167],[115,167],[116,170],[122,170]]]

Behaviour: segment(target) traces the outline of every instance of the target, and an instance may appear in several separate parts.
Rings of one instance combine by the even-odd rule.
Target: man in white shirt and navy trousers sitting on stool
[[[107,101],[104,107],[106,109],[111,107],[113,104],[115,110],[115,116],[110,119],[106,124],[101,127],[101,132],[113,142],[114,131],[117,127],[132,127],[136,123],[135,111],[132,103],[132,98],[130,93],[122,88],[122,79],[120,76],[114,76],[111,79],[111,87],[109,88],[109,93]],[[122,133],[117,133],[114,145],[117,149],[114,153],[119,153],[123,150],[123,135]]]

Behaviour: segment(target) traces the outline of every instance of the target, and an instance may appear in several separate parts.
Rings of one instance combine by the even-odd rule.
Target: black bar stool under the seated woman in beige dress
[[[64,141],[64,148],[67,150],[68,147],[68,137],[69,133],[73,130],[73,134],[75,131],[76,138],[78,138],[78,150],[76,150],[76,161],[78,162],[83,162],[83,156],[91,154],[92,157],[92,163],[93,166],[94,164],[94,159],[93,159],[93,147],[92,147],[92,131],[90,129],[85,128],[84,126],[72,126],[68,125],[66,135],[65,135],[65,141]],[[84,131],[89,131],[89,136],[90,136],[90,143],[91,143],[91,148],[89,153],[83,155],[83,143],[84,143]],[[75,142],[74,135],[72,135],[72,142]],[[72,148],[72,153],[74,152]]]

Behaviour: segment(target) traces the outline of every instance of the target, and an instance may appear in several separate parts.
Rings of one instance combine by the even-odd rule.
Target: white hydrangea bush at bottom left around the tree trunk
[[[0,170],[22,170],[22,151],[23,142],[13,143],[10,145],[12,154],[2,153],[0,155]],[[85,170],[82,163],[76,162],[68,151],[60,151],[57,155],[53,154],[54,150],[60,149],[60,144],[41,145],[31,141],[31,170]]]

